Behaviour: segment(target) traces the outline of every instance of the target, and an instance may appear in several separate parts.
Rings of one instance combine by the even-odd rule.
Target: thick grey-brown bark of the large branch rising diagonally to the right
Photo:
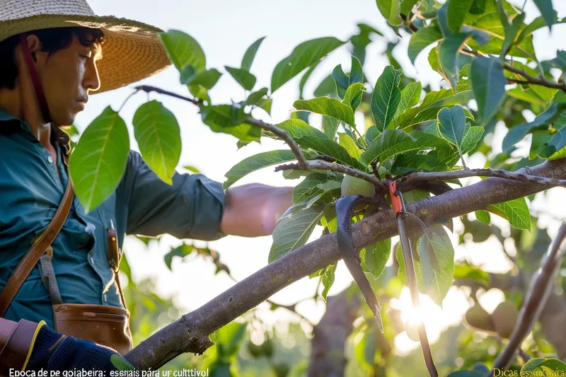
[[[530,170],[533,175],[560,179],[566,177],[566,158],[546,161]],[[489,204],[507,202],[548,188],[550,186],[533,182],[487,178],[474,185],[410,203],[406,210],[429,226],[435,221],[446,221],[484,209]],[[420,224],[408,220],[409,231],[420,230]],[[391,238],[396,233],[397,225],[391,211],[380,211],[352,226],[357,248]],[[335,233],[323,236],[284,255],[204,306],[183,315],[141,342],[125,357],[137,369],[157,369],[184,352],[202,354],[213,344],[209,334],[258,306],[285,286],[339,258]]]

